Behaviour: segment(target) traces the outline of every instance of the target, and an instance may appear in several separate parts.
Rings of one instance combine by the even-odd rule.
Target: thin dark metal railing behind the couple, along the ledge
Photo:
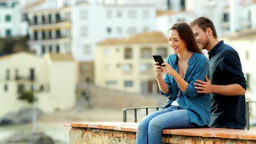
[[[247,119],[246,129],[247,130],[250,129],[250,117],[249,117],[250,103],[255,103],[255,110],[256,110],[256,101],[247,101],[246,102],[246,119]],[[148,115],[148,109],[155,109],[156,111],[158,111],[159,108],[162,108],[162,107],[164,107],[164,106],[133,107],[133,108],[123,109],[123,122],[127,122],[127,110],[133,110],[134,111],[135,122],[137,122],[137,110],[145,109],[146,110],[145,111],[146,112],[146,116],[147,116]]]

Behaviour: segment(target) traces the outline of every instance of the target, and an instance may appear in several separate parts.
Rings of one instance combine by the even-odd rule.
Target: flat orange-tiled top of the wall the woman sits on
[[[65,123],[66,127],[96,128],[119,131],[136,132],[138,123],[132,122],[92,122],[92,123]],[[195,129],[165,129],[162,134],[216,137],[222,139],[256,140],[256,131],[224,128],[195,128]]]

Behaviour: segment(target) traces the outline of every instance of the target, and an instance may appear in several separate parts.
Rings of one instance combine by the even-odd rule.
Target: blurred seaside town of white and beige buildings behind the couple
[[[199,16],[238,52],[246,100],[256,101],[255,0],[0,0],[0,143],[31,131],[68,143],[65,122],[165,105],[152,55],[170,55],[170,27]],[[255,103],[249,113],[253,129]]]

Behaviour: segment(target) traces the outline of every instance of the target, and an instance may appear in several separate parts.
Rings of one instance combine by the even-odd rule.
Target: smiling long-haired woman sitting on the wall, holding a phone
[[[197,47],[187,23],[175,23],[168,35],[173,54],[165,63],[155,62],[160,93],[168,97],[167,105],[150,113],[138,124],[136,143],[162,143],[162,129],[208,127],[210,94],[197,93],[195,80],[205,81],[208,59]],[[161,73],[165,73],[164,79]]]

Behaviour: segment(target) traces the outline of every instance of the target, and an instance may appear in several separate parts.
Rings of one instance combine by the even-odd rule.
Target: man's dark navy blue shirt
[[[223,40],[208,53],[210,81],[213,85],[237,83],[246,89],[246,79],[238,53]],[[245,95],[221,95],[211,93],[211,127],[245,128]]]

